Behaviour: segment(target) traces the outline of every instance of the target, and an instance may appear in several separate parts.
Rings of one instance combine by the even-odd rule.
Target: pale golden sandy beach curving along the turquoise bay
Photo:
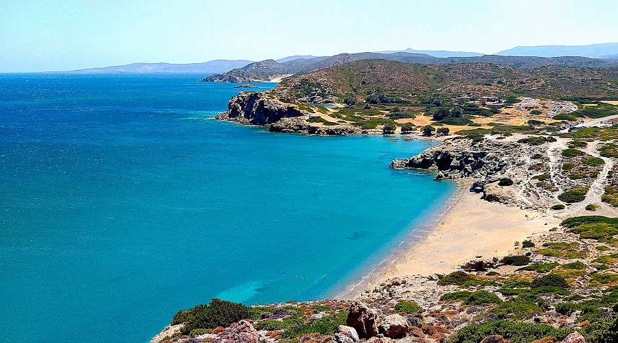
[[[468,191],[470,184],[460,181],[455,201],[434,229],[376,275],[370,286],[394,276],[453,272],[477,256],[507,255],[517,248],[515,241],[560,224],[560,218],[545,213],[482,200],[481,194]]]

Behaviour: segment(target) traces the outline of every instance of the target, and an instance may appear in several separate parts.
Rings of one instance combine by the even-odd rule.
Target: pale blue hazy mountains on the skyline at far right
[[[500,51],[499,56],[583,56],[583,57],[608,57],[618,54],[618,43],[602,43],[591,45],[540,45],[538,47],[514,47]]]

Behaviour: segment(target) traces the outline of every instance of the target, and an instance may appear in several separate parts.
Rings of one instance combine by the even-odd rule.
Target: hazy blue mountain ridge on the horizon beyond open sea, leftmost
[[[111,74],[111,73],[223,73],[243,67],[253,61],[249,60],[214,60],[203,63],[132,63],[113,67],[80,69],[67,71],[76,74]]]

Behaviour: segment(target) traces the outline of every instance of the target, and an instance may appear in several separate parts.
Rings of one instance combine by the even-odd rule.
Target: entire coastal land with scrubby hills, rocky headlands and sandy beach
[[[460,191],[424,240],[336,300],[213,299],[179,311],[152,343],[616,342],[615,60],[366,53],[286,63],[205,79],[294,74],[239,93],[216,118],[436,139],[389,167],[457,180]]]

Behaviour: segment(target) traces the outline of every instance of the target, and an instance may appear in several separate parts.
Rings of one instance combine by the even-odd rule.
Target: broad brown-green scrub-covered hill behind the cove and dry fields
[[[427,65],[360,60],[295,75],[283,80],[274,92],[283,99],[317,103],[341,102],[344,97],[364,99],[372,93],[401,100],[420,99],[434,93],[449,97],[466,94],[615,97],[618,96],[618,67],[545,65],[527,70],[488,62]]]

